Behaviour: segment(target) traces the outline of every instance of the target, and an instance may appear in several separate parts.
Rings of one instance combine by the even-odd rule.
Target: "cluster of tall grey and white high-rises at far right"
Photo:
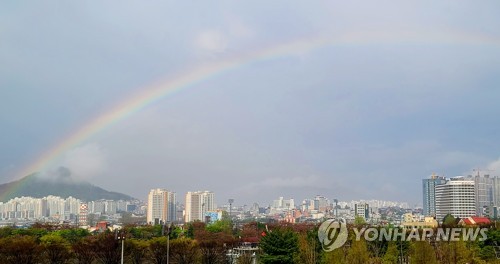
[[[423,215],[441,221],[447,214],[458,218],[498,217],[500,178],[490,175],[423,179]]]

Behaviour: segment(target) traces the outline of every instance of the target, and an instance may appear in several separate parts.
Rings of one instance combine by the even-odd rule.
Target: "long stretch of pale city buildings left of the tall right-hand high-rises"
[[[234,206],[234,200],[217,207],[212,191],[187,192],[184,201],[167,189],[151,189],[145,204],[140,201],[96,200],[81,201],[74,197],[43,198],[20,197],[0,203],[0,225],[2,223],[66,222],[80,226],[93,226],[96,222],[122,223],[122,213],[132,212],[142,223],[188,223],[193,221],[214,222],[224,215],[234,220],[310,222],[325,218],[344,218],[354,221],[362,218],[366,222],[399,219],[407,210],[407,204],[379,200],[338,201],[323,195],[296,202],[293,198],[279,197],[261,207]],[[403,210],[403,211],[400,211]]]

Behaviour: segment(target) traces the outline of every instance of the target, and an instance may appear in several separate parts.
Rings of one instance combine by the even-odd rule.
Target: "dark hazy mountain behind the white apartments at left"
[[[21,196],[42,198],[49,195],[63,198],[72,196],[84,201],[134,199],[126,194],[106,191],[86,181],[75,180],[71,177],[71,172],[64,167],[49,176],[35,173],[0,185],[0,202]]]

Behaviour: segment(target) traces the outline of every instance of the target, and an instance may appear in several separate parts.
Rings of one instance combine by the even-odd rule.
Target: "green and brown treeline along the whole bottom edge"
[[[494,226],[484,241],[367,241],[351,231],[340,248],[326,252],[315,224],[247,223],[230,221],[184,228],[125,226],[125,263],[250,264],[258,263],[500,263],[496,245],[500,230]],[[351,229],[352,230],[352,229]],[[168,237],[167,237],[168,236]],[[228,254],[242,242],[259,243],[259,249]],[[243,252],[243,251],[242,251]],[[0,228],[0,263],[120,263],[121,241],[116,233],[91,234],[84,229],[37,224],[31,228]]]

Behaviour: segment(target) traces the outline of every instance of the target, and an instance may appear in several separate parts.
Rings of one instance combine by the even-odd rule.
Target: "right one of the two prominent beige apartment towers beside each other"
[[[213,192],[198,191],[186,194],[186,223],[192,221],[205,221],[205,215],[209,211],[215,211],[215,197]]]

